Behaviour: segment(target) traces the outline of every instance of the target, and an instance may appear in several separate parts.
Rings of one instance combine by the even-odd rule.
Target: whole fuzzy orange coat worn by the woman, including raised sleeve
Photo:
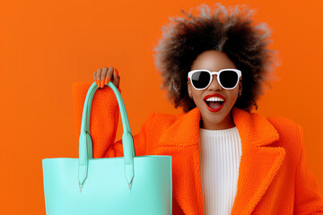
[[[91,84],[74,83],[77,138]],[[94,158],[123,156],[122,140],[115,142],[118,116],[114,92],[109,87],[98,89],[92,101],[90,127]],[[233,107],[232,116],[240,133],[242,155],[231,214],[323,214],[319,184],[306,165],[301,125],[284,116],[266,118],[237,107]],[[133,134],[136,156],[172,157],[173,215],[204,213],[198,151],[200,118],[197,107],[187,114],[153,113],[140,132]]]

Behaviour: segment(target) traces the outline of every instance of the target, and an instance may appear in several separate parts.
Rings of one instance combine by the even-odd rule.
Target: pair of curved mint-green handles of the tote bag
[[[125,163],[125,177],[129,187],[129,192],[133,183],[135,169],[134,169],[134,157],[135,157],[135,147],[134,140],[130,130],[129,121],[127,118],[127,111],[124,104],[124,101],[121,97],[120,92],[116,86],[109,82],[108,85],[115,93],[118,106],[120,109],[123,131],[122,134],[122,146],[124,150],[124,163]],[[81,133],[79,138],[79,167],[78,167],[78,177],[79,177],[79,187],[80,193],[85,182],[85,179],[88,174],[88,164],[89,159],[93,159],[92,156],[92,138],[90,134],[90,116],[91,116],[91,107],[92,99],[94,97],[95,91],[98,89],[98,85],[93,82],[90,89],[87,91],[86,98],[83,106],[83,116],[81,124]]]

